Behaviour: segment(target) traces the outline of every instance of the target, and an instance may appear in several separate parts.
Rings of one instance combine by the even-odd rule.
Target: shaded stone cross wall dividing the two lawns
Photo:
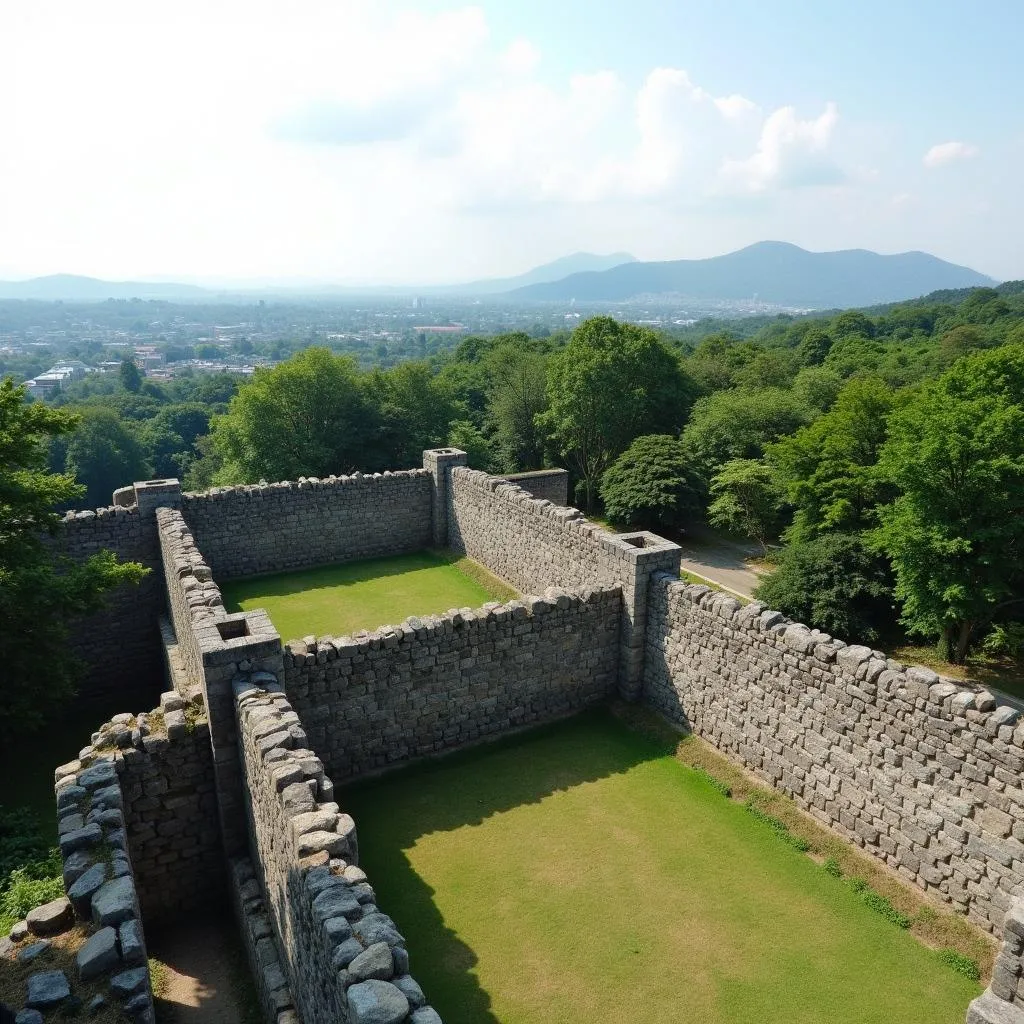
[[[296,642],[285,648],[286,690],[340,781],[607,697],[620,608],[617,589],[549,589]]]

